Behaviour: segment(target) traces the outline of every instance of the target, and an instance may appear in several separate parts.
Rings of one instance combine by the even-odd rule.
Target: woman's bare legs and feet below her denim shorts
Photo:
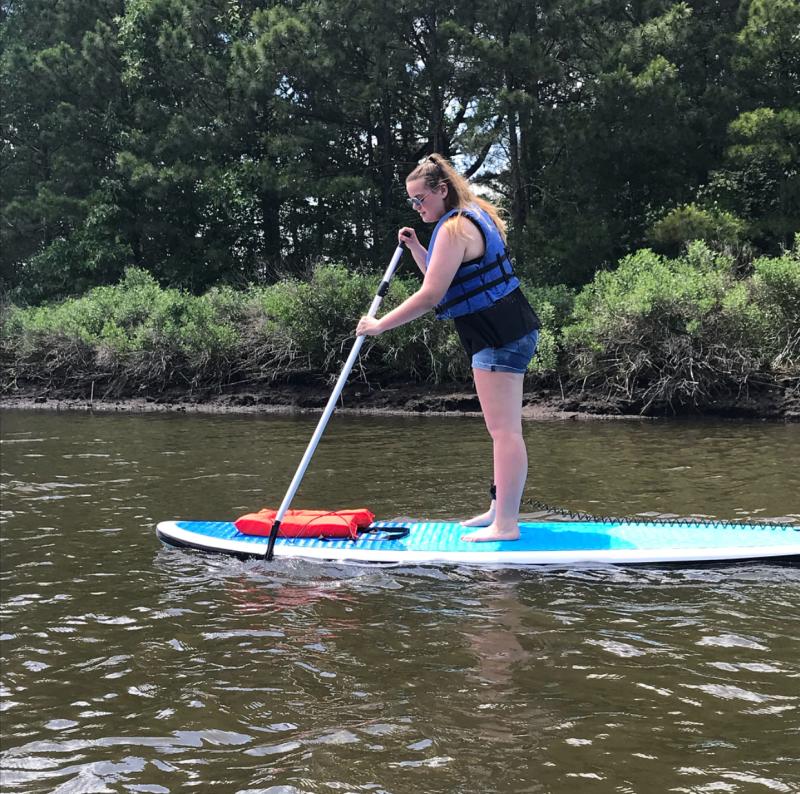
[[[522,438],[523,376],[482,369],[472,372],[486,428],[492,437],[497,499],[491,523],[464,535],[463,539],[516,540],[519,537],[519,504],[528,476],[528,454]]]

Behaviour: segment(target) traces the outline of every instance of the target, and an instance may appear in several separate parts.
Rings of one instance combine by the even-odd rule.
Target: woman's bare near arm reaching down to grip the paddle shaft
[[[436,245],[422,286],[380,320],[374,317],[362,317],[356,328],[356,334],[377,336],[422,317],[442,300],[456,271],[464,261],[465,253],[466,241],[456,237],[449,224],[445,224],[436,238]]]

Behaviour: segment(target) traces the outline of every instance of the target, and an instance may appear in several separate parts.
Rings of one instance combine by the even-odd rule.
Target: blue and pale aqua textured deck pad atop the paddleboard
[[[244,535],[234,524],[223,521],[178,521],[176,525],[199,538],[263,544],[262,535]],[[765,548],[800,542],[792,526],[742,524],[737,526],[664,523],[600,523],[591,521],[543,521],[520,524],[520,539],[470,543],[461,537],[472,529],[452,522],[402,523],[381,521],[374,525],[392,529],[408,527],[399,540],[381,540],[380,534],[362,535],[357,541],[318,538],[278,538],[276,546],[300,549],[371,549],[389,552],[539,552],[599,550],[690,550]],[[299,555],[301,556],[301,555]]]

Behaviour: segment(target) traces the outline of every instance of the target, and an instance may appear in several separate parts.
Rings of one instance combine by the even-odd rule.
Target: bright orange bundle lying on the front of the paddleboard
[[[269,535],[277,510],[264,508],[237,518],[234,524],[243,535]],[[358,537],[375,514],[365,507],[358,510],[287,510],[281,521],[279,538],[350,538]]]

